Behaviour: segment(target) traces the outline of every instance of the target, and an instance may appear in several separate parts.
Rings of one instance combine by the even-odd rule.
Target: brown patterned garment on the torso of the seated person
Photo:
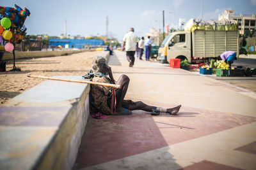
[[[110,83],[104,76],[95,76],[92,81],[99,83]],[[106,115],[112,115],[112,111],[108,106],[108,96],[111,94],[112,87],[102,85],[91,85],[90,93],[93,98],[93,106]]]

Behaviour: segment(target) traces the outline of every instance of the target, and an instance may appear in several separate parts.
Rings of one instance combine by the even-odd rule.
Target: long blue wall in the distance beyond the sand
[[[83,48],[83,46],[98,46],[104,45],[103,39],[49,39],[49,45],[58,46],[61,45],[65,47],[68,44],[69,48]]]

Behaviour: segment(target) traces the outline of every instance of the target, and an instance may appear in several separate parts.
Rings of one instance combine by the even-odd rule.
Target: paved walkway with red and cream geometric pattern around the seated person
[[[177,116],[90,118],[74,169],[256,169],[256,99],[207,76],[136,59],[109,58],[114,77],[129,76],[127,99]]]

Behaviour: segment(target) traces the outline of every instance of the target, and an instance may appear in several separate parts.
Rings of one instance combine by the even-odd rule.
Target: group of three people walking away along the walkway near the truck
[[[149,60],[150,48],[152,44],[150,40],[150,36],[148,36],[146,40],[144,40],[144,37],[138,38],[138,36],[134,34],[134,28],[130,28],[129,32],[125,34],[123,41],[124,43],[122,46],[122,51],[125,50],[126,52],[126,57],[129,62],[129,67],[132,67],[134,65],[135,52],[138,53],[137,57],[139,57],[139,59],[142,60],[144,46],[146,48],[145,59]]]

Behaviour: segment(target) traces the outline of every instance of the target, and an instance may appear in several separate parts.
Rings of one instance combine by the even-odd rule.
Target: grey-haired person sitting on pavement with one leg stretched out
[[[92,81],[116,83],[121,86],[121,89],[115,89],[102,85],[91,85],[90,106],[92,106],[93,110],[96,110],[96,112],[99,111],[106,115],[131,115],[131,110],[143,110],[156,112],[158,114],[159,112],[164,112],[176,115],[180,110],[181,105],[175,108],[165,109],[156,106],[148,106],[141,101],[133,102],[131,100],[124,100],[129,86],[129,77],[122,74],[116,82],[113,78],[111,67],[108,66],[104,57],[96,56],[93,58],[92,70],[93,73],[89,77],[92,78]],[[109,75],[109,77],[107,75]],[[84,78],[88,78],[88,74],[86,74],[86,76],[84,76]]]

